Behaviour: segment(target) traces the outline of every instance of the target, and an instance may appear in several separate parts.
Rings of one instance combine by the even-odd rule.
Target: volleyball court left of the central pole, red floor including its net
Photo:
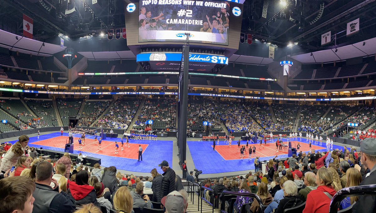
[[[102,140],[101,147],[99,148],[99,139],[100,139],[100,132],[102,128],[93,129],[85,132],[73,132],[73,144],[74,144],[74,153],[79,153],[81,151],[86,153],[91,153],[88,156],[91,156],[92,154],[103,154],[106,156],[112,156],[112,157],[125,157],[129,159],[138,159],[138,147],[141,145],[143,148],[143,153],[148,147],[148,144],[137,144],[134,143],[133,139],[129,139],[129,147],[126,144],[126,139],[124,138],[124,144],[123,149],[121,146],[121,138],[114,138],[111,140],[115,140],[119,146],[118,148],[118,154],[115,154],[115,141],[107,141]],[[96,132],[97,131],[97,132]],[[94,133],[94,135],[93,135]],[[95,140],[95,134],[97,134],[97,140]],[[82,135],[85,135],[85,139],[82,137]],[[79,146],[79,139],[81,139],[81,147]],[[54,138],[44,139],[41,141],[32,142],[30,144],[35,145],[43,145],[43,146],[49,146],[49,147],[56,147],[56,148],[65,148],[65,144],[69,142],[68,136],[57,136]]]

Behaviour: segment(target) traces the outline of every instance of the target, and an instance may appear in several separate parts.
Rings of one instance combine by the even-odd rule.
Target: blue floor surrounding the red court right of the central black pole
[[[273,141],[276,141],[276,139],[273,139]],[[299,138],[298,140],[299,141]],[[300,143],[307,143],[305,138],[302,138],[302,141],[299,141]],[[241,141],[241,144],[246,144],[246,141]],[[194,168],[198,170],[202,170],[202,174],[215,174],[215,173],[222,173],[222,172],[235,172],[235,171],[244,171],[244,170],[254,170],[254,160],[255,158],[251,158],[251,160],[248,160],[248,153],[246,153],[246,157],[243,158],[243,160],[224,160],[224,158],[217,152],[213,151],[213,142],[212,141],[187,141],[188,148],[190,150]],[[326,151],[326,143],[323,142],[323,149],[315,150],[315,151]],[[224,141],[220,141],[219,145],[226,145]],[[320,143],[312,145],[320,146]],[[237,140],[232,141],[232,147],[237,146]],[[253,146],[253,143],[252,143]],[[257,146],[258,147],[258,144]],[[349,146],[347,146],[349,148]],[[333,148],[338,148],[339,150],[343,149],[343,146],[334,145]],[[237,153],[240,156],[240,153]],[[259,154],[258,154],[259,156]],[[269,160],[272,159],[273,156],[268,157],[260,157],[259,159],[261,161],[263,160]],[[285,158],[288,157],[287,154],[280,154],[278,155],[278,158]],[[193,170],[193,168],[192,168]]]

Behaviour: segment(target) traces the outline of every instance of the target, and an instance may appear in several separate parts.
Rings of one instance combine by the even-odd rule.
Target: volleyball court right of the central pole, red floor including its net
[[[268,135],[268,136],[267,136]],[[267,136],[267,137],[265,137]],[[261,140],[261,145],[260,145]],[[281,147],[281,150],[276,150],[276,141],[282,141],[284,145],[287,145],[287,147]],[[257,142],[253,142],[252,140],[248,142],[248,148],[246,147],[246,141],[241,141],[240,148],[244,145],[246,147],[246,150],[244,151],[245,157],[243,157],[243,160],[247,160],[249,157],[249,148],[252,150],[252,147],[256,147],[256,156],[258,157],[271,157],[273,158],[276,155],[285,155],[288,153],[288,142],[291,142],[291,147],[296,148],[297,144],[300,145],[299,151],[308,152],[311,151],[311,149],[319,150],[323,147],[319,147],[312,144],[312,148],[309,148],[309,144],[305,142],[298,141],[299,137],[297,137],[297,140],[295,138],[292,138],[291,140],[289,138],[285,138],[283,135],[280,137],[279,135],[273,135],[273,138],[270,138],[269,134],[266,134],[264,132],[258,132],[257,136]],[[266,141],[266,144],[265,144]],[[232,141],[231,146],[224,143],[223,141],[220,141],[220,145],[215,145],[215,151],[217,151],[224,160],[238,160],[241,159],[240,156],[240,150],[238,151],[238,141]],[[213,146],[212,146],[213,147]],[[254,159],[253,155],[251,159]]]

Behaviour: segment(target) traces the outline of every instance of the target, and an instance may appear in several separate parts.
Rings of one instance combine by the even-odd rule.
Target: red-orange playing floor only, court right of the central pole
[[[293,141],[295,144],[298,144],[298,141]],[[221,142],[220,142],[221,143]],[[240,144],[240,147],[245,144]],[[275,143],[267,143],[266,145],[262,143],[262,147],[260,148],[260,144],[249,144],[249,147],[256,147],[256,156],[258,157],[274,157],[276,155],[287,154],[286,151],[276,151],[276,144]],[[300,143],[300,151],[310,151],[309,144]],[[212,145],[213,147],[213,145]],[[323,147],[315,146],[312,144],[312,149],[322,149]],[[238,144],[232,143],[231,147],[228,145],[215,145],[215,151],[217,151],[225,160],[238,160],[240,159],[240,151],[238,152]],[[243,159],[247,159],[249,156],[248,149],[244,152],[246,154]],[[253,156],[252,156],[253,158]]]

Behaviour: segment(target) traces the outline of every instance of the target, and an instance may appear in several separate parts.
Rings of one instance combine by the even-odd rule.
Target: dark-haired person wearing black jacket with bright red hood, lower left
[[[69,189],[67,193],[72,195],[76,201],[76,205],[85,205],[93,203],[97,207],[100,207],[97,202],[96,191],[93,186],[90,186],[89,183],[89,174],[85,170],[81,170],[76,175],[75,182],[69,182]]]

